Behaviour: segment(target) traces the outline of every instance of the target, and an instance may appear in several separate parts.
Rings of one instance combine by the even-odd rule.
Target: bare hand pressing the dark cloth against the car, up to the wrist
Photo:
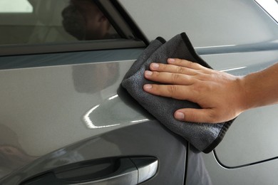
[[[168,64],[151,63],[145,78],[163,85],[144,85],[153,95],[196,102],[202,109],[177,110],[175,119],[187,122],[225,122],[245,110],[242,77],[205,68],[188,60],[168,59]]]

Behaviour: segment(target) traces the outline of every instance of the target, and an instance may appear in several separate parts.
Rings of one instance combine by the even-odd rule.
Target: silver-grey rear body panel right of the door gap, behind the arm
[[[150,40],[158,33],[168,40],[185,31],[197,53],[216,70],[247,75],[278,61],[277,1],[120,3]],[[135,7],[144,7],[144,14]],[[204,161],[212,184],[277,184],[277,110],[272,105],[242,113],[210,154],[190,149],[187,183],[200,183],[191,172]]]

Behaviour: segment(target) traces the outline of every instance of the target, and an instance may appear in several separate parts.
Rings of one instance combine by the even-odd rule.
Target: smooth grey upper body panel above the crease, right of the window
[[[249,0],[120,0],[149,41],[186,32],[195,47],[277,41],[278,26]],[[143,7],[138,9],[138,7]],[[150,26],[153,25],[153,26]]]

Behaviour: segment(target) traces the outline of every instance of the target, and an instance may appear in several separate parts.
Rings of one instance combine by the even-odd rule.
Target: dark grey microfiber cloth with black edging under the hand
[[[175,110],[187,107],[200,109],[200,106],[187,100],[175,100],[170,97],[151,95],[143,90],[143,85],[154,83],[144,78],[145,70],[150,70],[150,63],[167,63],[168,58],[186,59],[211,68],[195,53],[185,33],[180,33],[167,42],[158,37],[133,63],[123,78],[122,86],[165,127],[185,138],[199,151],[209,153],[221,142],[227,129],[235,119],[217,124],[175,120],[173,116]]]

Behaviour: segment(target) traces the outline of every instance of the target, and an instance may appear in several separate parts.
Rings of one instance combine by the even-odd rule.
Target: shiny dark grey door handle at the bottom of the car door
[[[114,160],[113,160],[114,161]],[[121,158],[114,161],[116,169],[106,173],[104,176],[99,171],[95,171],[95,175],[88,174],[88,164],[81,165],[78,168],[73,167],[66,169],[53,169],[47,173],[36,176],[24,185],[36,184],[81,184],[81,185],[106,185],[106,184],[140,184],[143,181],[155,176],[158,171],[158,159],[154,157],[131,157]],[[93,162],[93,165],[103,166],[103,162]],[[76,166],[76,165],[75,165]],[[112,165],[114,166],[114,164]],[[100,167],[103,168],[103,167]],[[98,177],[98,174],[101,177]],[[91,178],[93,176],[93,179]]]

